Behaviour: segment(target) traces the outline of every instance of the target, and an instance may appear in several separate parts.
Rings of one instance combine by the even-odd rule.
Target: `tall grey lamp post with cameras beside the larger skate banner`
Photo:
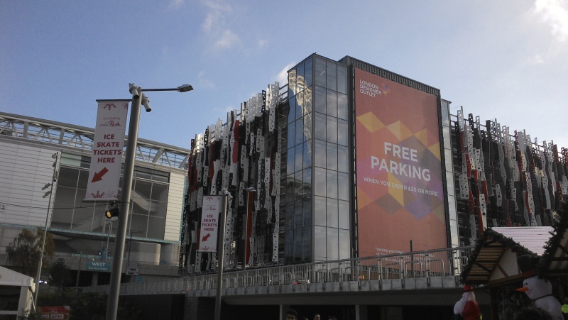
[[[183,84],[170,89],[142,89],[136,84],[129,84],[132,94],[132,109],[130,111],[129,135],[124,158],[124,175],[122,180],[122,194],[120,202],[119,224],[116,227],[116,242],[114,244],[114,259],[111,269],[111,282],[109,286],[109,300],[107,303],[107,320],[116,320],[116,311],[119,309],[119,289],[122,273],[122,257],[124,257],[124,243],[126,242],[126,226],[130,214],[130,197],[132,178],[134,175],[134,160],[136,160],[136,143],[138,143],[138,124],[140,123],[140,109],[143,105],[146,112],[150,112],[150,100],[143,93],[145,91],[177,91],[188,92],[193,90],[190,84]]]

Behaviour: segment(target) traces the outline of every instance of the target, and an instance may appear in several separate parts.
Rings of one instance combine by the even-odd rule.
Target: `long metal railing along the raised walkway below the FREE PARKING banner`
[[[365,258],[227,271],[223,287],[247,288],[324,282],[365,282],[460,275],[474,246],[447,248]],[[84,292],[107,292],[108,286],[85,287]],[[121,294],[173,294],[217,289],[217,273],[172,280],[121,285]]]

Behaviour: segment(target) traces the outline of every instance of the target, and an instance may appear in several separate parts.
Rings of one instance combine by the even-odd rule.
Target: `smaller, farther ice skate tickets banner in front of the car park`
[[[217,233],[219,231],[219,214],[221,213],[223,196],[204,196],[201,212],[200,246],[197,251],[217,252]]]

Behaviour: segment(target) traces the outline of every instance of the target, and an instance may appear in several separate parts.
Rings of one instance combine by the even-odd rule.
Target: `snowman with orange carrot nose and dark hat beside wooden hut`
[[[517,262],[525,280],[523,280],[523,287],[516,290],[525,292],[532,303],[535,304],[535,307],[547,311],[553,319],[564,320],[562,307],[558,300],[552,296],[552,284],[536,275],[536,268],[530,255],[521,255]]]

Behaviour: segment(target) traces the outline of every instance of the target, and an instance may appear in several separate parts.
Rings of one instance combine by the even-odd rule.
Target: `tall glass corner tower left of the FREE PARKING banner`
[[[286,263],[351,258],[347,71],[313,55],[288,72]]]

